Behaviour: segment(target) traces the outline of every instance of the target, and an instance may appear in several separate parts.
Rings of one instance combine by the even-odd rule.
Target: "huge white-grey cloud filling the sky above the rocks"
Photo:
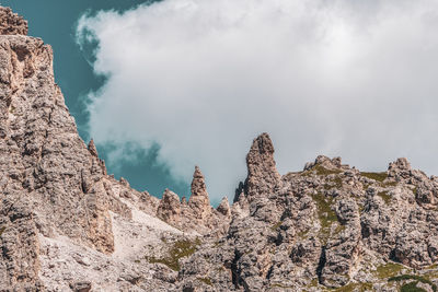
[[[397,156],[438,174],[435,0],[164,0],[84,15],[97,40],[90,94],[100,143],[161,148],[216,198],[244,178],[252,139],[268,131],[281,173],[316,154],[367,170]]]

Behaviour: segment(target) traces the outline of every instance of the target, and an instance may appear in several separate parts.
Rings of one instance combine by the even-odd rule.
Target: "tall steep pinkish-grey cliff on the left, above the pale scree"
[[[105,167],[77,132],[53,75],[53,51],[0,10],[0,287],[37,287],[38,234],[114,250]],[[9,27],[9,28],[8,28]],[[112,201],[112,203],[110,203]]]

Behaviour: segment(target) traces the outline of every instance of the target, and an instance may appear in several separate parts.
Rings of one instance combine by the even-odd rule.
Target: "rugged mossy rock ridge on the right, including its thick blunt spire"
[[[180,288],[435,291],[437,177],[405,159],[365,173],[319,156],[279,178],[273,149],[266,133],[254,140],[227,236],[191,257]]]

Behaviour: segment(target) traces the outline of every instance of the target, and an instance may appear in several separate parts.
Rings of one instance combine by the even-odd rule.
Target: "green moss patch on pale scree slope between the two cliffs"
[[[192,242],[188,240],[177,241],[173,243],[170,248],[169,254],[163,258],[146,257],[146,259],[151,264],[163,264],[171,268],[172,270],[180,271],[180,259],[183,257],[188,257],[196,252],[197,246],[200,245],[200,240]]]

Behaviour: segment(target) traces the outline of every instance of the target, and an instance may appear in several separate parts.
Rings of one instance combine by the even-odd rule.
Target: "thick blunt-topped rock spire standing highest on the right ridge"
[[[254,139],[246,155],[246,195],[267,195],[279,183],[274,160],[274,144],[266,132]]]

